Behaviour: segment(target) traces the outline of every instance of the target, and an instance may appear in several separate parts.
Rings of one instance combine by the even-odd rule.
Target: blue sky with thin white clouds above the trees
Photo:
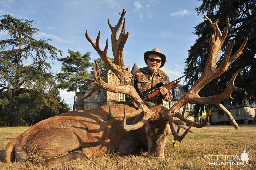
[[[36,39],[52,39],[49,43],[62,50],[64,57],[68,49],[80,51],[82,55],[91,52],[94,61],[99,55],[85,38],[85,31],[94,42],[101,31],[100,48],[104,49],[106,38],[109,43],[111,39],[107,19],[112,26],[116,25],[119,13],[125,8],[125,30],[129,31],[129,37],[123,50],[124,64],[145,67],[144,52],[159,48],[168,62],[162,70],[172,81],[183,75],[187,50],[197,38],[192,32],[204,20],[195,11],[201,3],[198,0],[0,0],[0,15],[35,20],[34,27],[40,30]],[[0,38],[5,38],[4,32],[0,33]],[[113,57],[111,46],[108,56]],[[55,61],[52,69],[61,72],[61,63]],[[60,95],[73,106],[73,92],[60,90]]]

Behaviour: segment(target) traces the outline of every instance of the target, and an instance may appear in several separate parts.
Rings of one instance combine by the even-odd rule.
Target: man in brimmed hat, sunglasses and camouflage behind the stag
[[[155,86],[156,84],[163,82],[163,84],[169,83],[169,78],[164,71],[159,70],[166,62],[166,57],[158,48],[154,48],[151,51],[144,53],[144,61],[148,65],[147,67],[139,68],[132,76],[132,83],[137,93],[140,94],[146,89]],[[160,87],[160,95],[151,98],[151,102],[147,102],[147,107],[153,105],[163,105],[163,101],[167,102],[172,100],[172,89],[166,89]],[[132,100],[131,104],[138,108],[138,105]]]

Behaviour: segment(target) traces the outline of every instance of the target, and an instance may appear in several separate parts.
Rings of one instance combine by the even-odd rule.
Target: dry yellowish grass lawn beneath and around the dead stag
[[[239,125],[236,130],[233,126],[206,126],[204,128],[194,128],[194,133],[188,133],[182,143],[176,142],[177,146],[172,148],[173,136],[170,135],[164,149],[166,160],[159,161],[154,158],[143,156],[118,156],[110,154],[91,158],[90,160],[66,163],[51,163],[44,167],[41,163],[33,162],[12,162],[4,163],[3,154],[5,146],[14,137],[26,131],[29,127],[0,128],[0,169],[256,169],[256,126]],[[181,130],[183,133],[184,131]],[[180,132],[180,133],[181,133]],[[248,154],[248,165],[213,165],[213,162],[235,162],[224,160],[221,156],[217,161],[214,155],[233,155],[241,158],[243,150]],[[204,160],[205,155],[211,155],[212,161]],[[211,158],[209,156],[209,158]],[[234,159],[229,156],[229,159]],[[213,159],[215,158],[215,159]],[[209,165],[212,163],[212,165]],[[246,164],[244,162],[244,164]]]

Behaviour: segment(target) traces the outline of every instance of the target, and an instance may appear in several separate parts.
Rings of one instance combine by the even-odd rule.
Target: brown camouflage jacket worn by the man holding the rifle
[[[139,68],[132,76],[131,79],[134,88],[136,89],[137,93],[140,94],[144,92],[146,89],[151,88],[155,86],[156,84],[160,83],[161,81],[163,84],[169,83],[169,78],[162,70],[157,70],[154,75],[152,75],[152,72],[149,70],[148,66],[144,68]],[[151,101],[154,101],[156,99],[157,95],[151,98]],[[172,100],[172,89],[168,89],[168,92],[164,97],[160,96],[156,99],[154,102],[157,105],[163,105],[163,100],[169,102]],[[128,97],[128,102],[132,102],[132,99]]]

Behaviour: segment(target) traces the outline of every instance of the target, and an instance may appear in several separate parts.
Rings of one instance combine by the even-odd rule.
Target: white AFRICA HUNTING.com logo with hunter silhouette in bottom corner
[[[209,161],[209,165],[222,165],[222,166],[225,166],[225,165],[243,165],[243,166],[252,166],[252,164],[248,164],[248,161],[249,161],[248,153],[246,153],[246,150],[244,150],[244,152],[241,154],[240,158],[237,155],[210,155],[210,154],[208,154],[208,155],[204,156],[203,161],[208,160]]]

